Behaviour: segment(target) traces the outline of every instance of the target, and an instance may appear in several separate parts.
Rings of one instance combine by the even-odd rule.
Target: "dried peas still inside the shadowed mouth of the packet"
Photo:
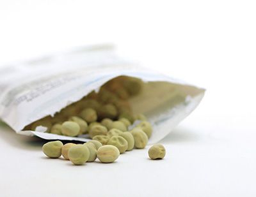
[[[147,120],[142,114],[134,115],[129,105],[129,99],[142,90],[143,82],[138,78],[113,78],[102,85],[99,92],[92,91],[81,100],[55,113],[53,117],[49,115],[36,120],[23,130],[36,131],[38,126],[44,126],[47,128],[45,132],[56,135],[89,135],[90,138],[101,138],[103,135],[110,138],[111,135],[107,133],[111,129],[128,131],[134,120]],[[148,125],[148,122],[141,122],[140,128],[150,137],[152,129]]]

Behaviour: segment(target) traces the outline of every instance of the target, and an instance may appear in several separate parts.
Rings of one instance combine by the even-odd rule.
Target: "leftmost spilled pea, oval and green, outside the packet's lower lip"
[[[63,143],[60,141],[47,142],[43,145],[42,150],[47,157],[58,158],[61,156]]]

